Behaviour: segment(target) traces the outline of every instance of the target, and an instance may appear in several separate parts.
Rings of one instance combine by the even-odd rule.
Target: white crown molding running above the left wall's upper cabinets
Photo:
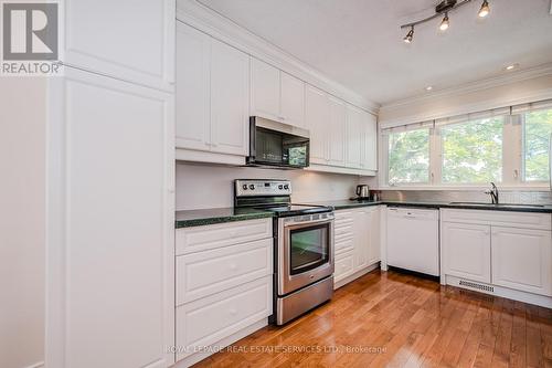
[[[259,59],[338,98],[378,114],[380,105],[330,80],[315,67],[197,0],[177,0],[177,20]]]

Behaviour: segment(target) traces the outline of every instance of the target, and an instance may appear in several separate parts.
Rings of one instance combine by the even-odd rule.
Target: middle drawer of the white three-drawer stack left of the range
[[[177,256],[177,305],[273,273],[273,240]]]

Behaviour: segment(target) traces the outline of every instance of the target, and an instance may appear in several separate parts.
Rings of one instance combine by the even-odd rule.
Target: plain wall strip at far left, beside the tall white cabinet
[[[0,77],[0,367],[44,359],[45,78]]]

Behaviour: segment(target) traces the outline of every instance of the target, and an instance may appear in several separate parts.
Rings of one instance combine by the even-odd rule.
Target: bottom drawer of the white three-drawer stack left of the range
[[[216,344],[272,314],[273,280],[254,282],[177,307],[177,360]]]

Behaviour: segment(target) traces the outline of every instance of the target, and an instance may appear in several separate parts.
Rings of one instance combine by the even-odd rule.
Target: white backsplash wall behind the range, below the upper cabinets
[[[359,177],[306,170],[177,165],[177,210],[233,207],[234,179],[289,179],[294,202],[347,199],[354,194]]]

